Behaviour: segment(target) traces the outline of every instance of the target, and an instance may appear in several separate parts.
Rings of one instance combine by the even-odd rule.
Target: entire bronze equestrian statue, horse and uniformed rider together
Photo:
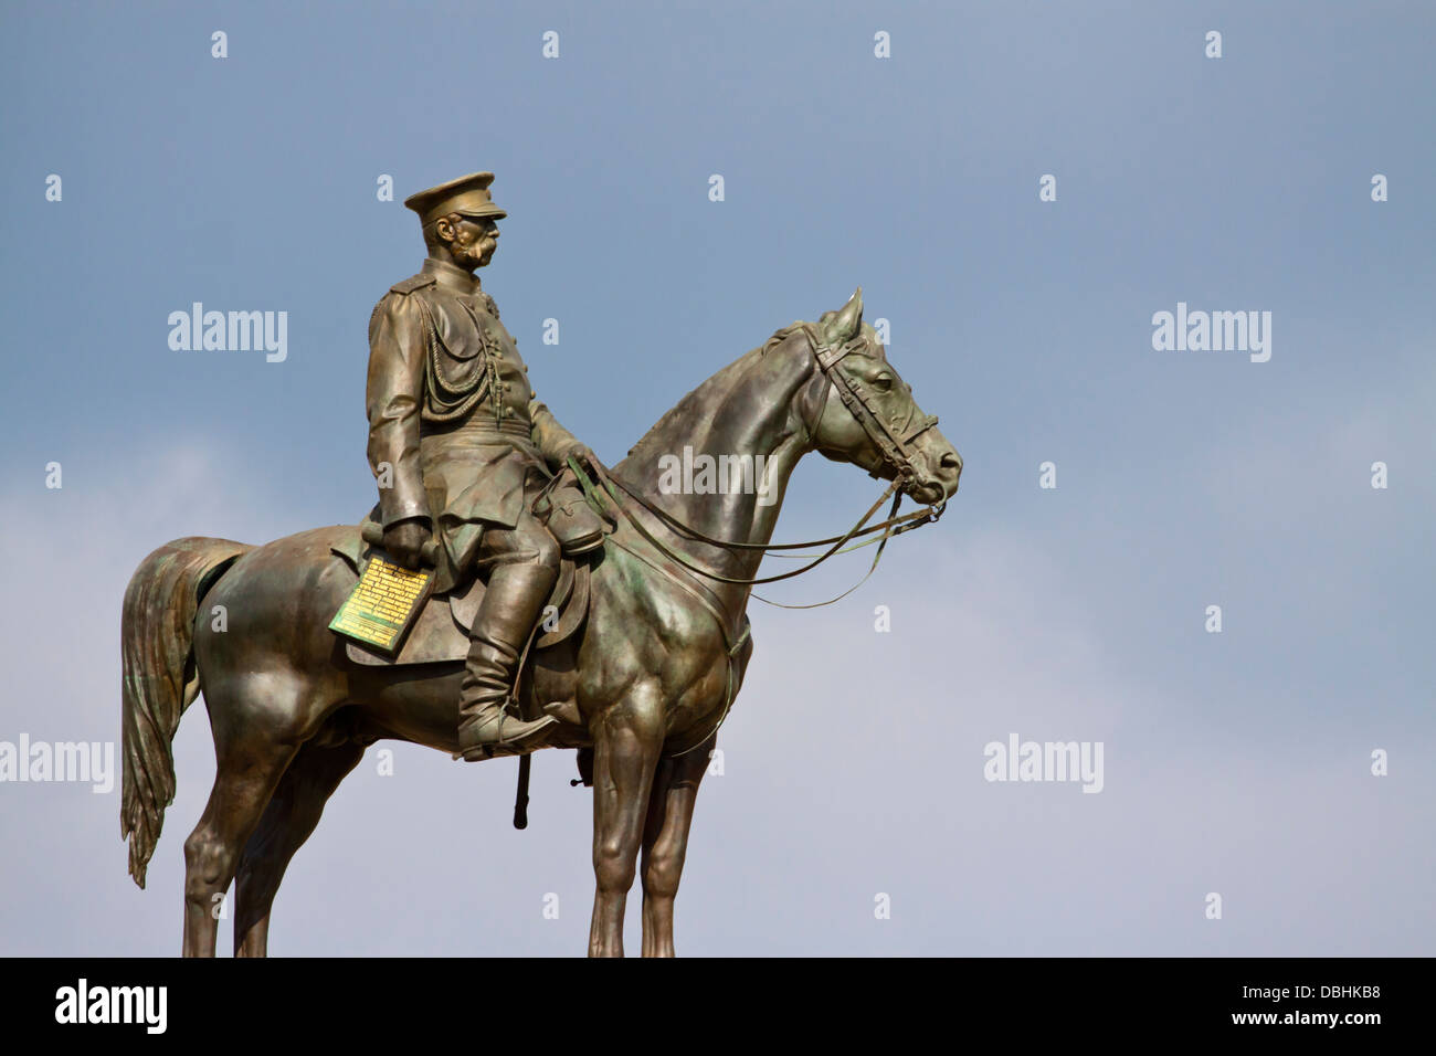
[[[178,539],[125,592],[121,825],[141,886],[174,797],[171,740],[201,690],[214,731],[214,789],[184,845],[187,955],[214,954],[213,907],[231,881],[236,953],[264,955],[290,858],[381,738],[467,759],[577,749],[593,787],[589,953],[623,953],[640,871],[643,954],[672,955],[698,783],[752,651],[748,596],[803,570],[757,578],[781,549],[770,540],[798,460],[816,450],[892,481],[887,520],[864,527],[885,494],[846,534],[817,540],[831,545],[819,560],[879,530],[880,553],[956,491],[962,460],[862,322],[860,290],[718,371],[603,467],[531,399],[513,338],[471,279],[503,216],[490,180],[408,203],[431,256],[370,323],[373,523],[257,547]],[[665,464],[689,451],[727,460],[731,486],[661,487]],[[761,481],[747,474],[760,464]],[[898,517],[902,494],[929,509]],[[435,595],[388,658],[329,629],[373,543],[437,566]],[[561,612],[553,628],[533,628],[534,598]]]

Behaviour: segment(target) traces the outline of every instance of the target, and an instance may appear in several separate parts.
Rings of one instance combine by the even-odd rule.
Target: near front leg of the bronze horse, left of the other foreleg
[[[590,957],[623,955],[623,908],[638,863],[663,738],[656,687],[639,687],[593,724],[593,924]]]

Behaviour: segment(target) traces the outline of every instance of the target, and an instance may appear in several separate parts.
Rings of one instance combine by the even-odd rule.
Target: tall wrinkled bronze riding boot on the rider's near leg
[[[500,565],[490,576],[460,687],[458,744],[467,761],[533,751],[559,724],[553,715],[518,718],[511,695],[518,658],[556,578],[543,565]]]

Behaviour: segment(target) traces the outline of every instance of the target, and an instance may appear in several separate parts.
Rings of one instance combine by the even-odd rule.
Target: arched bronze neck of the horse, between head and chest
[[[811,450],[808,427],[824,395],[826,379],[807,339],[793,330],[684,397],[615,473],[653,506],[712,539],[767,543],[788,477]],[[719,491],[725,478],[727,490]],[[652,530],[649,517],[645,524]],[[754,550],[725,550],[666,530],[656,534],[692,563],[734,579],[751,579],[763,560]],[[741,612],[747,605],[748,588],[704,582],[725,608]]]

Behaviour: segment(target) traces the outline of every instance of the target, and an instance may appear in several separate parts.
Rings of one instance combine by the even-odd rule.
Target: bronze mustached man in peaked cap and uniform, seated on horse
[[[603,545],[603,523],[572,473],[533,511],[569,457],[593,453],[528,388],[514,338],[480,286],[507,216],[474,172],[405,200],[419,214],[429,256],[396,283],[369,320],[369,466],[379,484],[370,513],[383,546],[418,568],[438,536],[435,593],[490,569],[460,695],[467,760],[540,747],[557,723],[517,717],[511,687],[528,636],[557,580],[560,552]]]

